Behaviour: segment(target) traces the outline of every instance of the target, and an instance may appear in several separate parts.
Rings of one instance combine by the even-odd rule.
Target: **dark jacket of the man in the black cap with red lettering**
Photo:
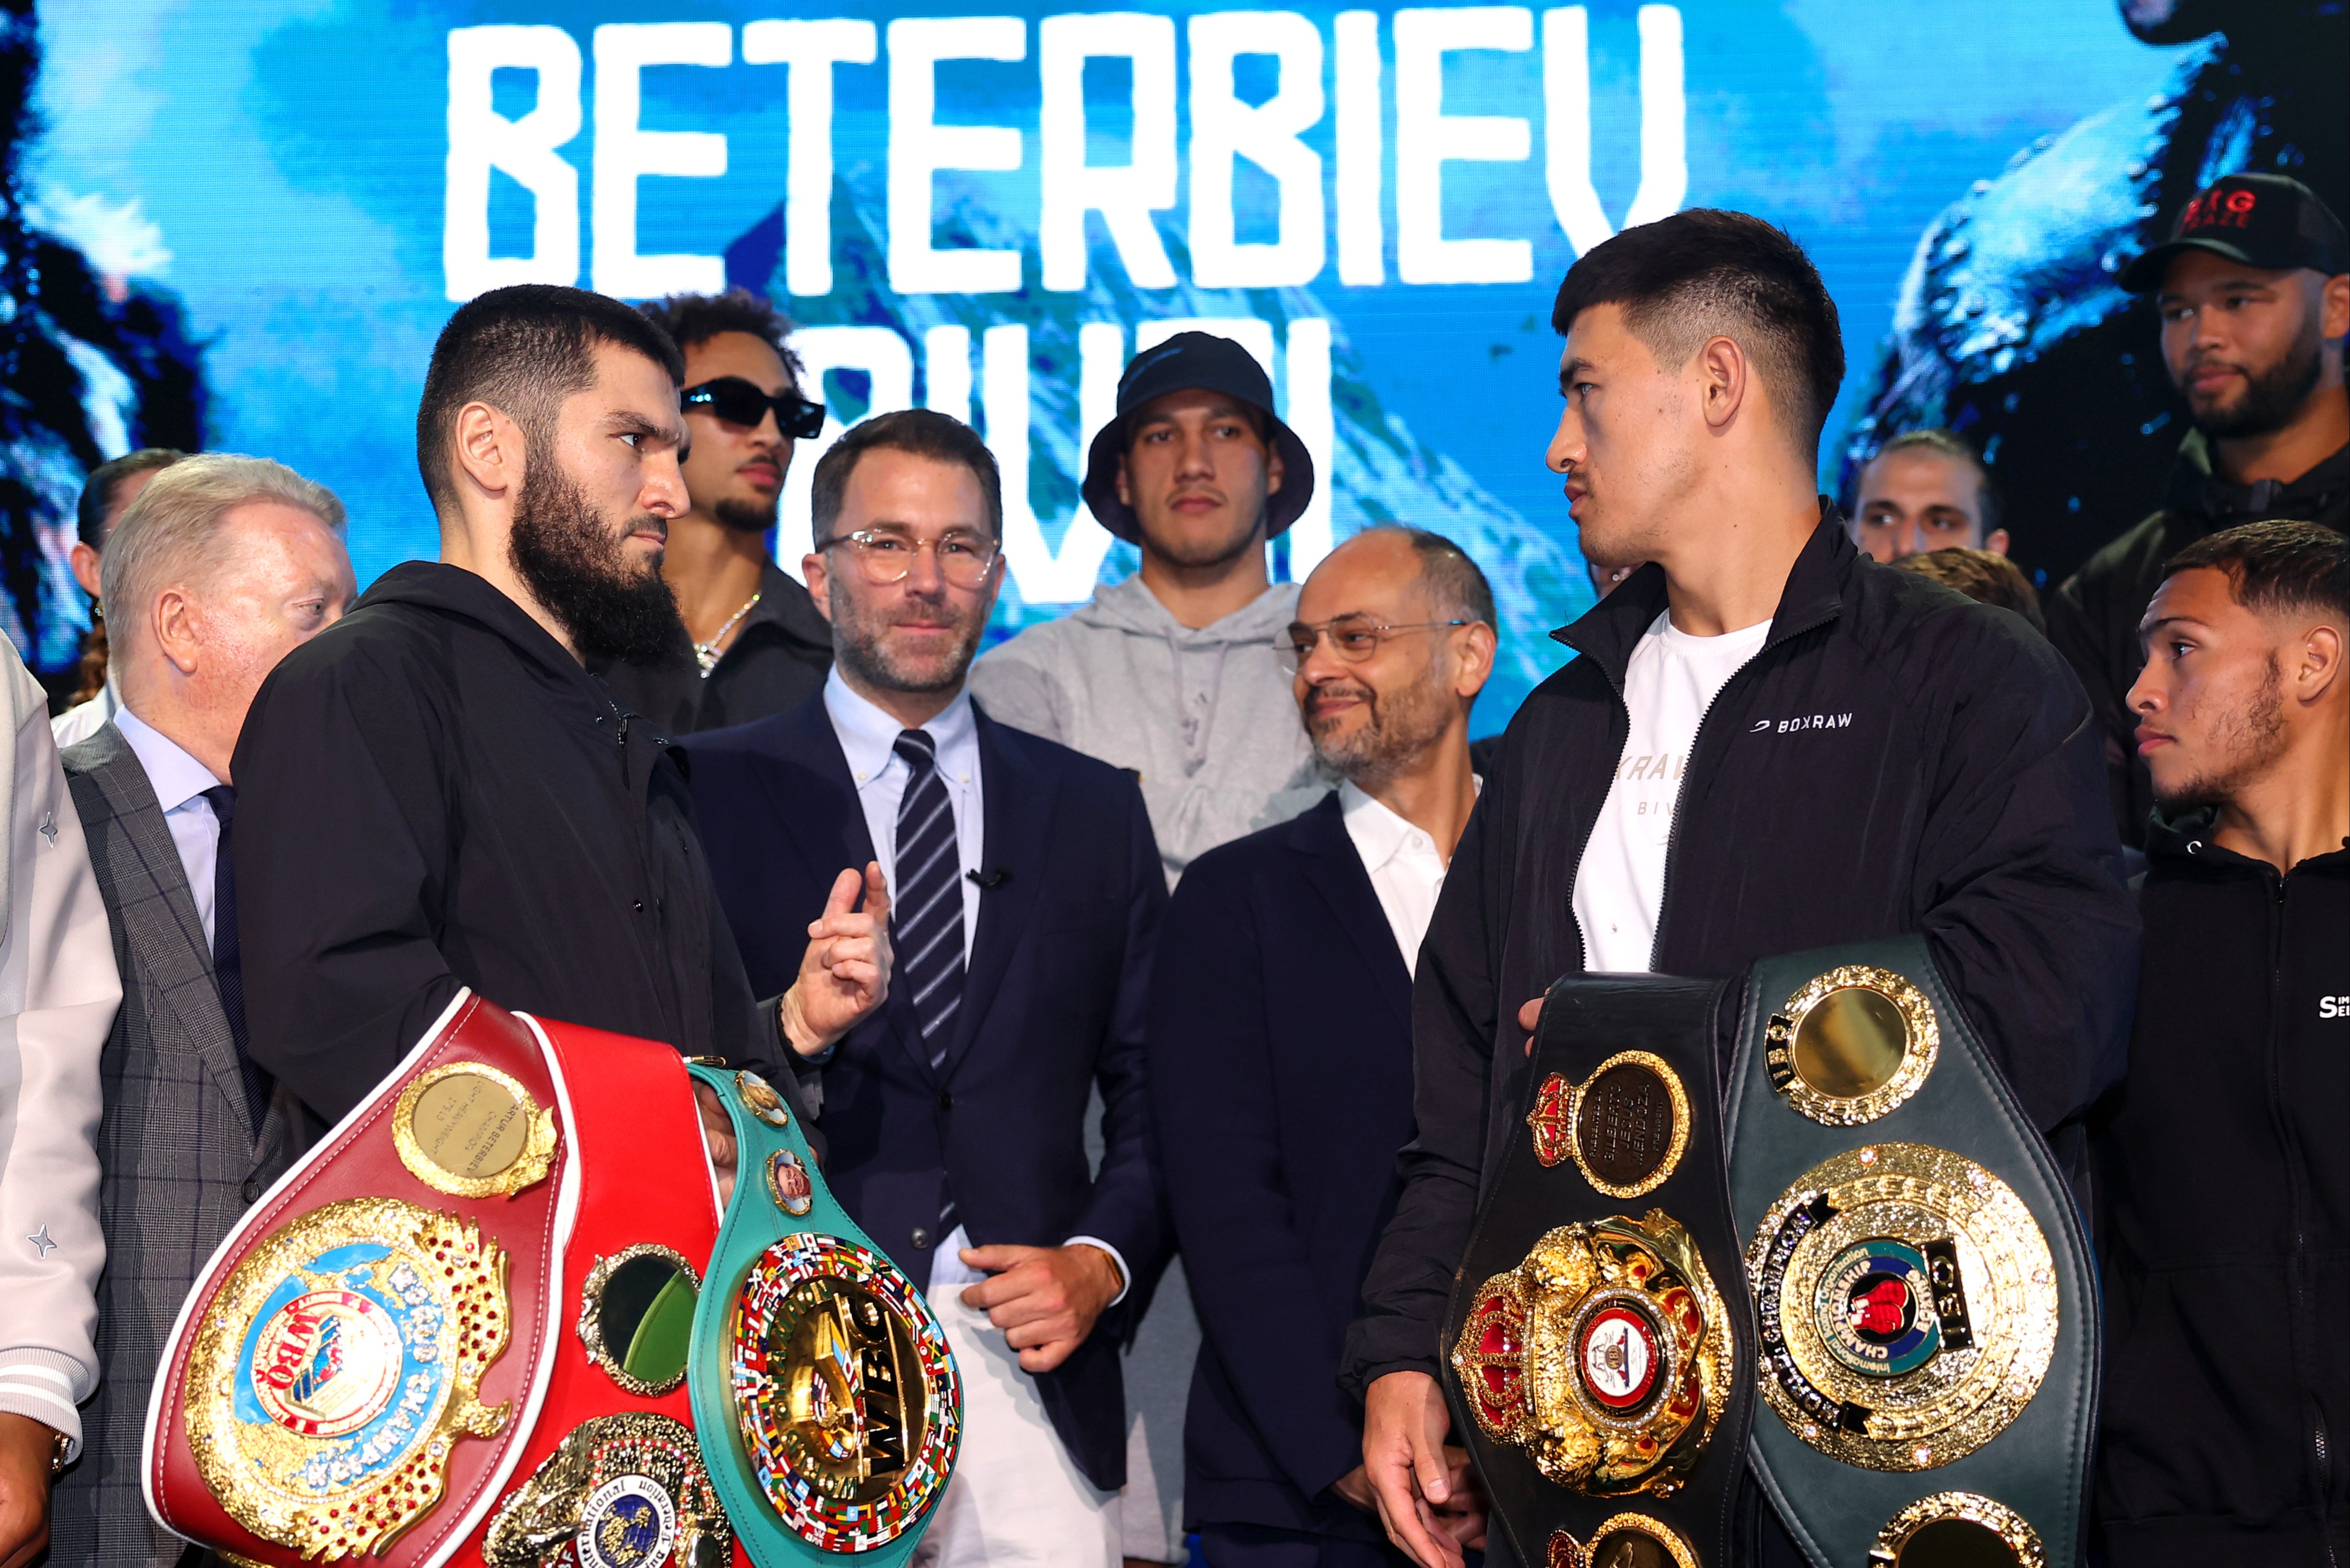
[[[2235,484],[2211,473],[2211,447],[2202,430],[2190,430],[2178,442],[2162,510],[2092,555],[2047,597],[2049,642],[2070,661],[2096,708],[2113,813],[2131,849],[2146,844],[2146,818],[2155,809],[2155,785],[2138,759],[2138,717],[2127,701],[2146,668],[2138,621],[2162,588],[2164,562],[2207,534],[2268,520],[2322,522],[2350,534],[2350,447],[2291,484]]]

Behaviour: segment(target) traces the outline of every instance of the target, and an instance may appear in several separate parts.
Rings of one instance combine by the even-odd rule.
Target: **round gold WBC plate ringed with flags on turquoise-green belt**
[[[799,1232],[752,1262],[728,1321],[743,1450],[825,1552],[898,1540],[947,1483],[961,1396],[928,1302],[874,1251]]]

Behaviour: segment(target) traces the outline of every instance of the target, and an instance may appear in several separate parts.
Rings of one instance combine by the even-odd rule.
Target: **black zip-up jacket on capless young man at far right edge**
[[[2160,816],[2129,1074],[2092,1117],[2113,1568],[2350,1563],[2350,849]]]

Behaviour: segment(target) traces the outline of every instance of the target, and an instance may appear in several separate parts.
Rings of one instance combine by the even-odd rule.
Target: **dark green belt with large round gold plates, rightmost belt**
[[[2070,1568],[2099,1307],[2073,1194],[1920,938],[1755,964],[1730,1199],[1753,1467],[1817,1568]]]

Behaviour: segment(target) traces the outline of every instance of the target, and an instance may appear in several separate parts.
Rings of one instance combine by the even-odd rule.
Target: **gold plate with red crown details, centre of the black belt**
[[[1607,1497],[1680,1490],[1730,1399],[1730,1314],[1690,1234],[1560,1225],[1478,1291],[1452,1371],[1488,1436]]]

